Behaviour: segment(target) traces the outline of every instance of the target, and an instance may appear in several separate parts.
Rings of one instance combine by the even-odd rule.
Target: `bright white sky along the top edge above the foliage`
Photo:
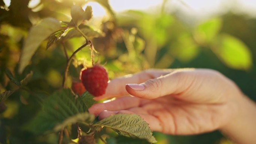
[[[10,0],[3,0],[7,6]],[[59,0],[57,0],[59,1]],[[155,6],[160,7],[163,0],[109,0],[110,6],[116,12],[124,10],[149,10]],[[40,0],[30,0],[29,7],[40,3]],[[93,7],[94,16],[105,15],[105,10],[95,2],[89,2]],[[166,10],[173,12],[179,11],[180,15],[196,18],[207,18],[212,15],[219,15],[228,11],[247,13],[256,17],[256,0],[167,0]],[[150,9],[151,8],[151,9]]]

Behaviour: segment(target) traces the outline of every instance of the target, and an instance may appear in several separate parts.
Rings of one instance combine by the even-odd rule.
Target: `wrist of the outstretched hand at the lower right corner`
[[[238,144],[256,143],[256,104],[241,94],[234,100],[235,110],[230,121],[220,128],[227,137]]]

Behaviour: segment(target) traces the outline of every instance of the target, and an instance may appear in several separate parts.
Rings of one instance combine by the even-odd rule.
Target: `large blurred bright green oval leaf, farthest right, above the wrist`
[[[250,49],[240,40],[228,34],[222,34],[214,43],[213,52],[228,67],[248,70],[252,66]]]

